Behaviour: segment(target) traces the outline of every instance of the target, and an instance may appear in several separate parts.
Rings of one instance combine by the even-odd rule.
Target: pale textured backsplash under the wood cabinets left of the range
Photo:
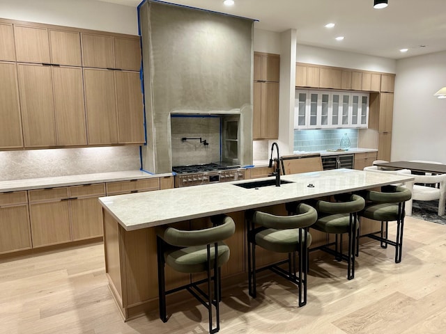
[[[139,146],[0,152],[0,181],[139,170]]]

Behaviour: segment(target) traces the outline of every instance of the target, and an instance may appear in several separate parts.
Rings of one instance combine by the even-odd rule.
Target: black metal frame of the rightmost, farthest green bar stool
[[[381,229],[376,232],[360,235],[360,237],[369,237],[380,241],[381,248],[387,248],[387,244],[395,247],[395,263],[401,262],[401,255],[403,253],[403,228],[404,228],[404,209],[406,202],[398,203],[398,218],[397,218],[397,237],[396,240],[388,239],[389,222],[381,221]],[[379,235],[377,235],[379,234]],[[356,248],[356,253],[359,253],[359,243]]]

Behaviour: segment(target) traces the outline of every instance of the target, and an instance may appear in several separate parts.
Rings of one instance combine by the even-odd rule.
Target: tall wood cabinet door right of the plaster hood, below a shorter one
[[[279,136],[279,83],[254,82],[253,138]]]

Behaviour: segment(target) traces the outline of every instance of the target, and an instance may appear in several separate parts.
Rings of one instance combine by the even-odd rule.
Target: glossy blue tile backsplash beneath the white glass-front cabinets
[[[347,134],[351,148],[357,148],[358,129],[294,130],[294,151],[323,151],[339,148],[342,136]]]

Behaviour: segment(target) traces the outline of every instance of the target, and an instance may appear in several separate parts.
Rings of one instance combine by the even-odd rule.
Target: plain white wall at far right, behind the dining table
[[[397,61],[392,160],[446,164],[446,99],[433,96],[446,86],[446,51]]]

